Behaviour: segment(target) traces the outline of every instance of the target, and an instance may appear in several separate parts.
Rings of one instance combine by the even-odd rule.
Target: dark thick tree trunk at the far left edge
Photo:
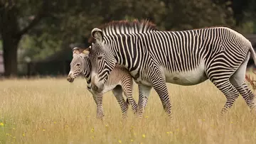
[[[1,6],[1,4],[0,4]],[[21,35],[18,35],[17,9],[12,1],[9,6],[0,9],[0,33],[4,49],[4,75],[15,77],[17,74],[17,50]]]

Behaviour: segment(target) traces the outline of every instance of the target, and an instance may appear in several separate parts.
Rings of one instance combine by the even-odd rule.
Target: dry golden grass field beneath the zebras
[[[0,143],[256,143],[256,118],[240,96],[224,119],[225,96],[209,81],[183,87],[168,84],[174,119],[166,118],[151,91],[142,121],[129,109],[127,121],[111,92],[105,94],[105,120],[82,78],[0,81]],[[134,84],[134,99],[138,99]]]

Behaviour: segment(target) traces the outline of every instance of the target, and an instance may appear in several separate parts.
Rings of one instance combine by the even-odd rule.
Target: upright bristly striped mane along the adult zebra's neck
[[[156,24],[148,20],[138,21],[111,21],[98,27],[102,30],[103,35],[114,35],[114,34],[132,34],[132,33],[145,33],[148,31],[158,31]],[[88,43],[95,43],[95,38],[90,36]]]

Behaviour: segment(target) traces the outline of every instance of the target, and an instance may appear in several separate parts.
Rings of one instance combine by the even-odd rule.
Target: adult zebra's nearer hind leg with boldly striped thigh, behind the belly
[[[242,58],[241,55],[241,57],[238,57],[238,60],[235,59],[230,61],[232,59],[228,52],[220,52],[219,55],[213,57],[213,61],[206,63],[206,74],[208,78],[221,92],[223,92],[227,99],[221,110],[221,116],[223,116],[233,106],[235,100],[238,99],[239,92],[233,86],[230,78],[238,71],[240,65],[242,65],[242,62],[244,61]]]

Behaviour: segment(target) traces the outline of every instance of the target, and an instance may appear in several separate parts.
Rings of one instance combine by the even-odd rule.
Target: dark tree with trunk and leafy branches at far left
[[[27,4],[31,2],[33,8]],[[17,74],[17,49],[22,35],[48,16],[49,1],[0,1],[0,33],[4,50],[5,76]],[[28,13],[30,12],[30,13]],[[33,14],[31,14],[33,13]],[[20,23],[28,21],[26,26]]]

